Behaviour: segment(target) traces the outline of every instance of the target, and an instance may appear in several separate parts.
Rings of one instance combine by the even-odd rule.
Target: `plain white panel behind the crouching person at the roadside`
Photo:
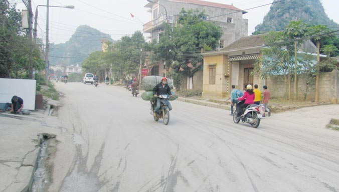
[[[11,102],[12,96],[24,99],[24,109],[35,109],[36,80],[0,78],[0,103]]]

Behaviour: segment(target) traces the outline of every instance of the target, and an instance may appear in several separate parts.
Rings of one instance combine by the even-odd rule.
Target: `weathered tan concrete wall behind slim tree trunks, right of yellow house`
[[[339,72],[333,70],[332,72],[320,73],[319,76],[319,101],[338,103],[339,97]],[[288,96],[288,87],[283,80],[283,76],[274,76],[266,80],[266,85],[270,90],[271,97],[285,97]],[[297,82],[297,98],[303,99],[306,93],[306,100],[315,99],[315,79],[309,83],[309,88],[306,91],[305,75],[298,75]],[[261,87],[262,88],[262,87]],[[287,89],[286,89],[287,88]],[[294,81],[291,80],[291,98],[294,96]]]

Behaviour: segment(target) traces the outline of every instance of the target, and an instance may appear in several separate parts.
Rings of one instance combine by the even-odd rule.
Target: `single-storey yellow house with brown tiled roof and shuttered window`
[[[204,56],[203,96],[226,97],[234,84],[242,90],[245,84],[263,82],[252,75],[253,64],[264,47],[263,34],[242,37],[219,51]]]

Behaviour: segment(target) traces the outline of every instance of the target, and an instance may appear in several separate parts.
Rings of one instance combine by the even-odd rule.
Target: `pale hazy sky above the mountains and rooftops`
[[[25,9],[21,0],[16,2],[19,9]],[[232,4],[246,10],[252,7],[272,3],[273,0],[205,0],[223,4]],[[339,0],[320,0],[330,19],[339,23]],[[32,0],[32,9],[35,14],[37,5],[46,5],[47,0]],[[74,5],[74,9],[50,7],[49,9],[49,41],[61,43],[67,41],[79,25],[87,24],[104,33],[112,39],[142,31],[142,25],[150,21],[150,13],[144,7],[147,0],[50,0],[50,5]],[[257,24],[262,23],[263,17],[269,11],[270,5],[247,10],[243,17],[248,19],[249,34]],[[134,15],[131,17],[130,13]],[[171,14],[171,12],[168,12]],[[38,36],[45,41],[46,7],[38,7]]]

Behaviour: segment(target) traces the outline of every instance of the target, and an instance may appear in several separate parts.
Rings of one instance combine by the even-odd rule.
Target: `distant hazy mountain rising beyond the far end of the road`
[[[101,40],[112,38],[88,25],[80,25],[65,43],[50,44],[50,65],[81,65],[91,52],[102,49]]]

